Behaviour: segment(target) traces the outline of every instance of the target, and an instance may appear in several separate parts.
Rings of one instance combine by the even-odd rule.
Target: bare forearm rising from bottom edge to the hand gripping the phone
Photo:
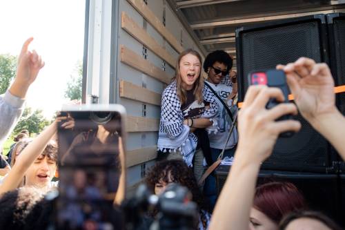
[[[248,229],[259,163],[246,162],[237,151],[230,175],[219,195],[210,229]]]

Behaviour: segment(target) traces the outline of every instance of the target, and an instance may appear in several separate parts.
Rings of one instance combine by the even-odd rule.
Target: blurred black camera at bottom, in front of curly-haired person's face
[[[135,195],[122,204],[128,230],[195,229],[197,227],[197,204],[184,186],[168,184],[159,196],[153,195],[141,184]],[[149,210],[156,209],[155,220],[148,218]]]

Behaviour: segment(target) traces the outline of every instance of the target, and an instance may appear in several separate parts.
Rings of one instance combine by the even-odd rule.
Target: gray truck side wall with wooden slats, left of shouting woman
[[[152,0],[149,4],[151,5],[147,6],[142,0],[120,2],[119,61],[121,74],[125,74],[119,76],[118,90],[120,102],[131,111],[126,120],[129,139],[131,142],[134,141],[132,148],[130,145],[127,146],[127,167],[130,168],[155,160],[157,157],[157,142],[152,143],[152,137],[159,130],[161,90],[171,82],[176,58],[179,52],[185,49],[182,46],[182,37],[186,38],[184,44],[189,44],[188,48],[193,44],[193,39],[184,33],[186,30],[174,16],[174,10],[167,5],[164,6],[163,1],[159,0]],[[165,8],[168,10],[166,21],[168,20],[171,28],[164,25],[162,18],[159,19],[164,15]],[[152,9],[162,11],[154,12]],[[193,47],[196,47],[194,45]],[[144,51],[141,53],[140,46],[143,50],[148,49],[149,57],[144,55]],[[124,68],[122,64],[129,68]],[[139,74],[130,69],[139,71]],[[140,116],[138,111],[141,106],[150,111]],[[143,135],[148,136],[144,141]]]

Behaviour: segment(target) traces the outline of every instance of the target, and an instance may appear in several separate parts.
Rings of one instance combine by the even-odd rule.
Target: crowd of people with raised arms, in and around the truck
[[[37,52],[28,49],[31,41],[23,44],[14,82],[0,97],[0,146],[17,124],[28,88],[44,66]],[[290,182],[256,187],[260,165],[272,154],[279,134],[301,128],[293,119],[278,120],[282,115],[301,113],[345,160],[345,118],[335,106],[328,66],[306,57],[278,65],[286,73],[295,104],[268,109],[270,98],[284,102],[282,91],[250,86],[240,110],[232,67],[233,59],[222,50],[210,52],[204,63],[193,49],[181,52],[175,77],[161,95],[157,163],[146,175],[148,188],[160,195],[172,182],[186,186],[198,207],[196,229],[341,229],[331,218],[310,210]],[[61,120],[58,117],[34,138],[26,131],[19,133],[8,153],[10,164],[1,155],[0,229],[48,226],[52,207],[43,198],[58,186],[52,179]],[[62,128],[71,127],[62,124]],[[214,173],[202,178],[207,167],[225,156],[234,161],[218,198]],[[157,218],[157,210],[148,216]]]

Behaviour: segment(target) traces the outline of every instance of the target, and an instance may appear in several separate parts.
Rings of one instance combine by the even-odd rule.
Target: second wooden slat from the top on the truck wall
[[[121,28],[126,30],[132,37],[137,39],[141,44],[144,44],[144,46],[149,48],[152,52],[155,52],[158,57],[164,59],[164,61],[174,68],[177,60],[161,47],[155,39],[148,35],[146,30],[139,27],[135,21],[128,17],[126,12],[121,13]]]

